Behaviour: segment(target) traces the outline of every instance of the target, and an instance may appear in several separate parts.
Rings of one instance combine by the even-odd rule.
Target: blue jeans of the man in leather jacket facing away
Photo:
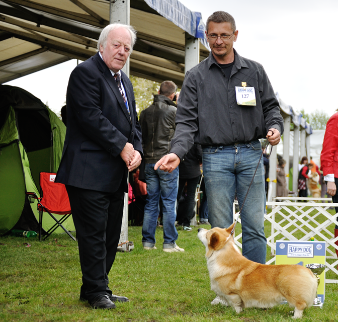
[[[147,199],[144,206],[142,226],[142,244],[146,247],[155,246],[155,231],[159,214],[159,197],[163,203],[163,248],[175,247],[178,233],[175,227],[176,198],[179,184],[179,169],[167,173],[157,169],[155,164],[145,164],[145,182],[147,184]]]

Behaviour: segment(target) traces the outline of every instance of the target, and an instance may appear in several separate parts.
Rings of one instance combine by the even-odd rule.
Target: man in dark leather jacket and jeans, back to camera
[[[159,197],[163,202],[163,251],[184,252],[176,245],[178,233],[175,227],[176,198],[178,192],[178,168],[172,173],[154,170],[156,162],[170,151],[176,125],[175,100],[177,86],[164,81],[154,95],[153,104],[140,114],[142,146],[145,160],[147,199],[144,207],[142,244],[146,250],[155,250],[155,230],[159,214]]]

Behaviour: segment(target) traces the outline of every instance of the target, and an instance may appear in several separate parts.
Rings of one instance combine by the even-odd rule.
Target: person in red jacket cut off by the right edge
[[[334,113],[326,123],[323,148],[320,153],[320,170],[323,172],[327,185],[327,194],[332,196],[332,202],[338,202],[338,113]],[[335,207],[338,212],[338,207]],[[334,227],[334,238],[338,237],[338,223]],[[338,246],[338,240],[335,241]],[[335,250],[338,257],[338,250]]]

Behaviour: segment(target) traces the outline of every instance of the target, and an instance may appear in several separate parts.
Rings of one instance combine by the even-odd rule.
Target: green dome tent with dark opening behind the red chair
[[[13,228],[38,232],[37,201],[25,192],[40,195],[40,172],[57,171],[65,132],[63,122],[38,98],[0,85],[0,235]],[[42,228],[54,223],[46,214]],[[71,216],[63,225],[75,230]]]

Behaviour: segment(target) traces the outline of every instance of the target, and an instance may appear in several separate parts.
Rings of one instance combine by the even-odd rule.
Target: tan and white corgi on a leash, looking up
[[[245,307],[268,308],[287,301],[294,318],[313,304],[317,279],[300,265],[264,265],[241,255],[229,228],[199,228],[206,248],[211,289],[237,313]]]

